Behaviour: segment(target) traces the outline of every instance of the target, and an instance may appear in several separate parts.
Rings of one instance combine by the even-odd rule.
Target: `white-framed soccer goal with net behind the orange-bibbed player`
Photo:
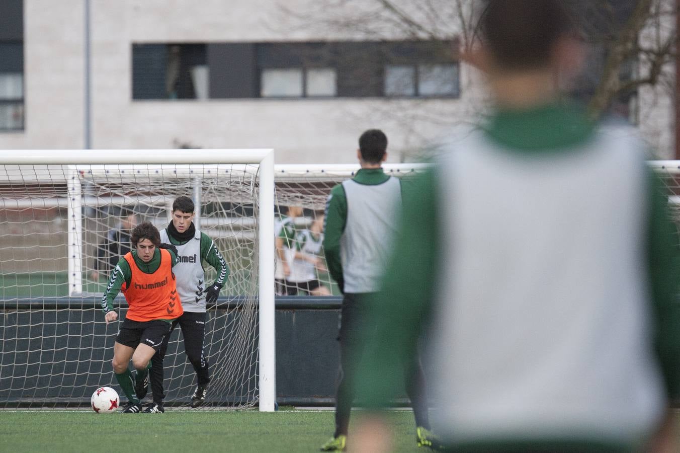
[[[165,228],[180,195],[231,269],[208,307],[207,405],[274,409],[273,150],[0,151],[0,405],[80,405],[116,386],[119,322],[106,325],[100,305],[126,252],[116,234],[130,216]],[[195,386],[177,337],[166,401]]]

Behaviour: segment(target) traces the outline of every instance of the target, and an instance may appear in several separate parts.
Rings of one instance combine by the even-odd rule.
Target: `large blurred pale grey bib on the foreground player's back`
[[[435,307],[434,350],[447,352],[432,380],[440,428],[456,426],[456,441],[651,431],[665,405],[640,265],[641,144],[598,133],[527,159],[475,133],[439,169],[441,195],[455,200],[441,206],[450,277]]]

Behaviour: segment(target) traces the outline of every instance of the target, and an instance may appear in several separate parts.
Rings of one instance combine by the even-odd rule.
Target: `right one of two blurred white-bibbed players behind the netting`
[[[319,281],[318,271],[325,271],[320,254],[324,240],[324,214],[316,213],[309,228],[300,231],[292,250],[293,261],[288,275],[289,296],[304,291],[310,296],[330,296],[330,290]]]

